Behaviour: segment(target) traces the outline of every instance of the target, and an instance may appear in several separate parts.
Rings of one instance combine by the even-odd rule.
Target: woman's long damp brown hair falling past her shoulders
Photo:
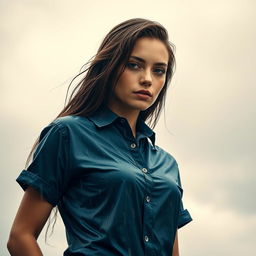
[[[142,18],[124,21],[106,35],[94,58],[87,62],[84,65],[85,69],[71,81],[67,95],[72,83],[84,75],[72,90],[68,103],[56,118],[67,115],[88,116],[98,108],[106,106],[136,41],[143,37],[159,39],[165,44],[169,54],[165,84],[154,104],[140,112],[140,117],[144,121],[148,121],[149,125],[154,128],[165,104],[166,90],[174,73],[175,46],[169,42],[168,32],[161,24]],[[38,140],[35,142],[26,164],[28,164],[37,144]]]

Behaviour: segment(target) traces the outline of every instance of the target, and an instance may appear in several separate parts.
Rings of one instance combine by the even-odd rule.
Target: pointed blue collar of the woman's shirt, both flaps
[[[121,118],[111,111],[107,106],[99,108],[96,112],[88,116],[88,118],[97,126],[104,127],[113,123],[116,119]],[[138,132],[148,137],[155,148],[155,132],[141,119],[137,123]]]

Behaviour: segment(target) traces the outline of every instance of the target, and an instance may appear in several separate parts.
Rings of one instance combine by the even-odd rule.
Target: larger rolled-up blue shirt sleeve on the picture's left
[[[53,206],[57,205],[70,180],[69,139],[65,126],[51,123],[39,137],[31,164],[16,181],[26,190],[31,186]]]

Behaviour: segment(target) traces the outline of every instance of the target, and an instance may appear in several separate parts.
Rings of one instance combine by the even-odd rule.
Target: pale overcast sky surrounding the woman
[[[68,82],[116,24],[162,23],[177,68],[157,144],[178,161],[182,256],[256,251],[256,2],[254,0],[0,0],[0,255],[23,195],[15,182],[41,129],[59,113]],[[47,256],[62,255],[58,218]]]

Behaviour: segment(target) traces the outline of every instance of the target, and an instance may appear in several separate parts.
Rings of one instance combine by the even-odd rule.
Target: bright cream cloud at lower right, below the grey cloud
[[[194,221],[179,231],[181,254],[251,255],[255,250],[256,216],[241,217],[232,210],[191,204]]]

